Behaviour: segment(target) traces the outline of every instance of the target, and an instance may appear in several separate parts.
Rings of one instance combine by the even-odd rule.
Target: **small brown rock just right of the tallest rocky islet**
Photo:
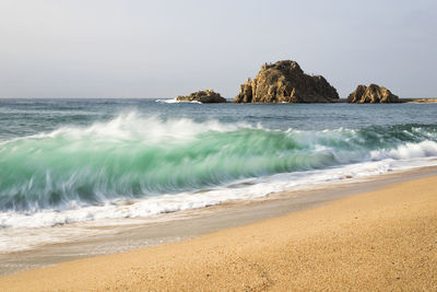
[[[380,87],[376,84],[368,86],[358,85],[356,90],[347,97],[347,103],[356,104],[378,104],[378,103],[399,103],[397,95],[392,94],[388,89]]]

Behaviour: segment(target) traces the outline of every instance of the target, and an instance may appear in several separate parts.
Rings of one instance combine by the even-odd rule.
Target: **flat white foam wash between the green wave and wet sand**
[[[425,143],[426,144],[426,143]],[[379,155],[400,155],[395,153]],[[417,152],[414,151],[417,154]],[[276,174],[267,177],[243,179],[229,186],[216,187],[202,192],[181,192],[140,199],[114,200],[103,206],[78,207],[36,213],[0,213],[0,253],[25,250],[48,243],[60,243],[109,232],[95,226],[118,226],[143,222],[155,214],[220,205],[231,200],[250,200],[284,190],[311,189],[332,183],[350,183],[394,171],[437,165],[435,157],[409,160],[385,159],[350,164],[328,170]],[[345,179],[347,178],[347,179]],[[80,223],[80,224],[79,224]],[[90,223],[94,226],[90,229]],[[31,233],[29,233],[31,232]]]

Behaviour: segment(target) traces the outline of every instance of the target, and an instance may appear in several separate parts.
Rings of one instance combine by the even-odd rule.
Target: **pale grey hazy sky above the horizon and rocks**
[[[435,97],[436,54],[436,0],[0,0],[0,97],[233,97],[281,59]]]

